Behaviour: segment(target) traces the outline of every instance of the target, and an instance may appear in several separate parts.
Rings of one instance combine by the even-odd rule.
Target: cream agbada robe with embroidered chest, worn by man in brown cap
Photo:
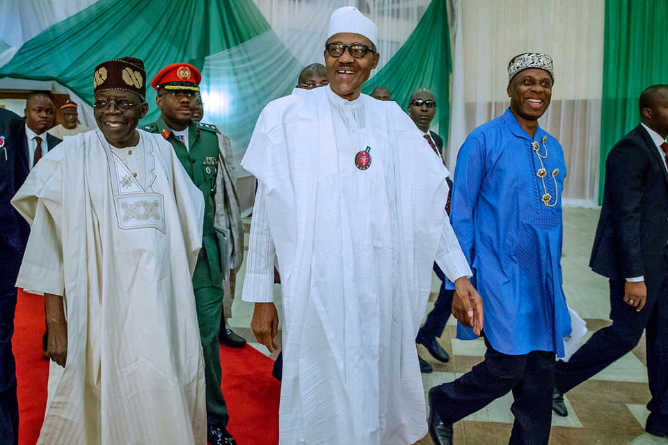
[[[204,202],[171,146],[139,133],[143,181],[95,130],[49,151],[13,200],[31,223],[17,286],[67,308],[38,444],[206,444],[191,284]]]

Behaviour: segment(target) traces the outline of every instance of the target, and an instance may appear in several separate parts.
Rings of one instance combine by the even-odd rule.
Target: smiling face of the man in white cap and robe
[[[330,43],[361,43],[371,49],[376,49],[371,40],[365,38],[363,35],[353,33],[332,35],[327,40],[327,44]],[[330,88],[336,95],[347,100],[354,100],[360,97],[362,84],[369,79],[369,74],[378,65],[380,57],[377,52],[367,51],[367,54],[362,58],[354,58],[350,55],[348,49],[339,57],[332,57],[325,50],[324,56]]]

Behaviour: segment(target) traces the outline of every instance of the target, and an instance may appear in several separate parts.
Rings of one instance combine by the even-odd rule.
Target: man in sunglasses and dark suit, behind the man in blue
[[[424,88],[413,92],[411,98],[408,99],[408,115],[411,116],[411,119],[415,122],[417,128],[424,133],[424,138],[427,140],[427,143],[429,143],[431,148],[434,149],[438,156],[441,156],[441,159],[443,159],[443,139],[440,138],[438,134],[434,133],[434,131],[429,130],[431,120],[434,119],[435,114],[436,97],[434,96],[434,93],[425,90]],[[447,181],[448,186],[452,189],[452,181],[450,181],[450,179],[447,179]],[[448,203],[450,203],[450,197],[448,197]],[[450,213],[450,209],[447,209],[447,211]],[[421,344],[427,348],[432,357],[439,362],[445,363],[450,360],[450,356],[447,355],[447,352],[440,346],[437,339],[443,334],[447,318],[450,317],[450,312],[452,312],[452,293],[454,291],[445,289],[445,275],[443,275],[443,271],[440,270],[436,263],[434,263],[434,272],[436,272],[438,279],[441,281],[438,298],[434,303],[434,309],[429,312],[427,320],[417,332],[415,343]],[[431,373],[431,371],[433,371],[429,362],[426,362],[420,356],[417,358],[420,361],[420,371],[422,371],[422,373]]]

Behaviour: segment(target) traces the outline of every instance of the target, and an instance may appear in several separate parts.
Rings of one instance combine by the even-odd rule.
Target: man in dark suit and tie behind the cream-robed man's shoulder
[[[47,130],[54,124],[56,113],[56,107],[54,106],[51,97],[43,92],[33,92],[26,99],[24,113],[26,115],[26,125],[24,129],[26,148],[23,156],[26,165],[32,170],[33,166],[42,159],[42,156],[47,154],[50,149],[63,142],[63,140],[47,133]],[[18,185],[21,186],[21,184]],[[19,219],[23,220],[23,218]],[[47,328],[42,337],[42,357],[47,360],[49,359],[49,353],[47,353],[48,337],[49,330]]]

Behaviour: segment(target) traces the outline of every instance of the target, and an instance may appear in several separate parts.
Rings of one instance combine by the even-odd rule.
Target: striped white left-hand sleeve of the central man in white
[[[264,185],[257,186],[253,218],[250,220],[248,259],[241,300],[250,302],[273,302],[273,265],[276,248],[273,245],[267,206],[264,202]]]

